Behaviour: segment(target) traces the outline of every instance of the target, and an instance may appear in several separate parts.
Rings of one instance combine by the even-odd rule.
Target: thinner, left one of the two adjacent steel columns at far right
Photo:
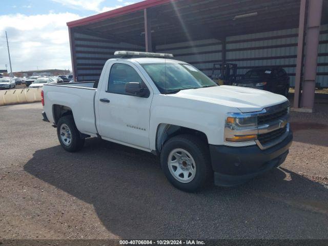
[[[300,96],[300,83],[303,68],[303,43],[304,43],[304,24],[305,24],[305,7],[306,0],[301,0],[299,10],[299,23],[298,23],[298,39],[297,39],[297,58],[296,58],[296,71],[295,71],[295,94],[294,94],[294,108],[299,107]]]

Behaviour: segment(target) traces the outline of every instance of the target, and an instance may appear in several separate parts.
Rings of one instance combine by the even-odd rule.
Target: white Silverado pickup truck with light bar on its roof
[[[238,185],[285,160],[293,138],[286,97],[217,86],[170,54],[115,54],[121,57],[106,62],[98,85],[44,86],[43,118],[57,128],[65,150],[100,137],[151,152],[185,191],[213,177],[219,186]]]

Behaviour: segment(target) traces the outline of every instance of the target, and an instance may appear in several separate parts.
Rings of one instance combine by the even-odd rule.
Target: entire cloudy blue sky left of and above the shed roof
[[[66,23],[141,0],[0,0],[0,70],[70,69]]]

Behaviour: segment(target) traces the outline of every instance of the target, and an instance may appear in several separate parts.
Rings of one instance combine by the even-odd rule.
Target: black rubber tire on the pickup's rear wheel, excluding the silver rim
[[[60,129],[64,126],[64,124],[69,128],[71,132],[71,140],[70,143],[65,143],[60,136]],[[81,137],[79,131],[77,130],[74,122],[74,118],[72,115],[66,115],[61,117],[57,122],[57,136],[60,142],[60,145],[64,148],[64,150],[68,152],[76,152],[83,148],[85,138]]]

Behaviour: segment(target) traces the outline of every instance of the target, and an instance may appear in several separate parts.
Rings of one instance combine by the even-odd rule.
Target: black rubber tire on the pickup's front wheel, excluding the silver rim
[[[195,161],[196,173],[190,182],[180,182],[170,172],[168,158],[171,151],[175,149],[188,151]],[[194,192],[204,187],[206,183],[213,178],[208,146],[200,138],[192,135],[177,135],[170,138],[162,148],[160,153],[160,163],[167,179],[173,186],[182,191]]]

